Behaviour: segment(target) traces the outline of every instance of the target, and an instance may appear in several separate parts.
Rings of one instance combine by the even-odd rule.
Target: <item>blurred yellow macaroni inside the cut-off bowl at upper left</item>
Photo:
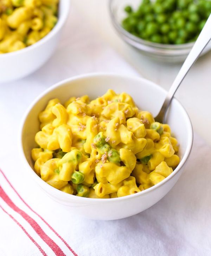
[[[32,45],[57,23],[59,0],[0,1],[0,53]]]

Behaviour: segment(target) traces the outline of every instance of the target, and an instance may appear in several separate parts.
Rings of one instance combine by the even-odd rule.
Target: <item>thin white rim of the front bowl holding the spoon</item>
[[[75,196],[75,195],[71,195],[68,193],[64,193],[63,191],[60,191],[54,187],[52,187],[51,185],[49,185],[48,183],[46,183],[45,181],[43,181],[43,179],[41,179],[36,172],[34,172],[34,170],[32,169],[32,167],[30,166],[30,164],[28,163],[25,153],[24,153],[24,149],[23,149],[23,128],[25,125],[25,121],[26,118],[28,116],[28,114],[30,113],[30,111],[33,109],[34,105],[37,104],[37,102],[44,97],[45,95],[47,95],[50,91],[54,90],[57,87],[62,87],[65,84],[68,84],[69,82],[73,82],[76,80],[80,80],[80,79],[84,79],[84,78],[100,78],[100,77],[110,77],[110,78],[121,78],[121,79],[130,79],[130,80],[136,80],[136,81],[142,81],[143,83],[149,84],[152,87],[156,87],[156,89],[162,91],[164,94],[167,95],[167,91],[165,89],[163,89],[162,87],[160,87],[159,85],[155,84],[152,81],[149,81],[145,78],[142,77],[134,77],[134,76],[128,76],[128,75],[121,75],[121,74],[115,74],[115,73],[85,73],[85,74],[81,74],[81,75],[76,75],[67,79],[64,79],[62,81],[59,81],[58,83],[50,86],[49,88],[47,88],[46,90],[44,90],[42,93],[40,93],[40,95],[38,95],[33,102],[30,104],[30,106],[27,108],[27,110],[25,111],[25,114],[23,115],[23,118],[21,120],[20,123],[20,132],[19,132],[19,153],[21,155],[21,158],[23,159],[25,166],[28,166],[31,171],[29,172],[32,176],[32,178],[34,180],[36,180],[36,182],[38,183],[38,185],[44,189],[41,185],[41,183],[43,184],[43,186],[46,186],[46,190],[51,190],[52,194],[57,195],[57,198],[61,198],[63,197],[64,200],[74,200],[74,201],[78,201],[78,203],[106,203],[106,202],[110,202],[110,201],[121,201],[121,200],[126,200],[126,199],[132,199],[134,197],[139,197],[142,195],[145,195],[147,193],[150,193],[151,191],[161,187],[162,185],[164,185],[166,182],[168,182],[170,179],[172,179],[179,171],[181,171],[182,167],[185,165],[187,159],[190,156],[191,153],[191,149],[192,149],[192,145],[193,145],[193,127],[192,127],[192,123],[190,120],[190,117],[187,114],[187,111],[185,110],[185,108],[183,107],[183,105],[179,102],[178,99],[176,99],[175,97],[173,98],[173,100],[175,100],[180,107],[182,108],[182,110],[184,111],[184,114],[186,115],[186,121],[187,121],[187,125],[188,125],[188,130],[189,133],[187,135],[188,137],[188,145],[186,147],[186,150],[184,152],[184,156],[182,158],[182,160],[180,161],[179,165],[175,168],[175,170],[168,176],[166,177],[164,180],[162,180],[161,182],[159,182],[158,184],[152,186],[151,188],[145,189],[143,191],[140,191],[139,193],[135,193],[132,195],[127,195],[127,196],[122,196],[122,197],[115,197],[115,198],[107,198],[107,199],[98,199],[98,198],[87,198],[87,197],[80,197],[80,196]],[[45,190],[45,189],[44,189]],[[48,193],[48,192],[47,192]],[[62,199],[60,199],[62,201]]]

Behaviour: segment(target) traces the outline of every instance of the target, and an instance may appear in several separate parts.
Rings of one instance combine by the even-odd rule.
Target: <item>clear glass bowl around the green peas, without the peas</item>
[[[153,43],[141,39],[127,32],[122,28],[121,21],[126,18],[124,7],[127,5],[137,9],[141,0],[109,0],[109,12],[114,28],[120,37],[128,44],[132,45],[141,53],[152,57],[154,60],[163,62],[183,62],[194,42],[185,44],[161,44]],[[211,44],[207,45],[202,54],[211,49]]]

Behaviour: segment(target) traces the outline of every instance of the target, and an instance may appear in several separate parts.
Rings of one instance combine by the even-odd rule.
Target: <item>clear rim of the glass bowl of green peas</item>
[[[122,26],[117,22],[114,12],[113,12],[113,4],[114,0],[109,0],[109,14],[111,17],[111,21],[116,29],[116,31],[123,35],[124,37],[130,39],[131,41],[138,43],[140,45],[145,45],[148,48],[156,48],[157,50],[165,50],[166,53],[177,53],[177,50],[187,50],[191,49],[195,42],[189,42],[184,44],[162,44],[162,43],[154,43],[151,41],[144,40],[133,34],[129,33],[127,30],[123,29]]]

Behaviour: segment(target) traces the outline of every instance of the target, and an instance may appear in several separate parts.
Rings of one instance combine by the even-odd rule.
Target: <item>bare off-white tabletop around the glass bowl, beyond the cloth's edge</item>
[[[124,59],[146,79],[166,90],[171,86],[181,64],[154,62],[140,54],[117,36],[109,17],[108,0],[72,0],[99,36],[109,43]],[[112,63],[111,63],[112,65]],[[192,67],[176,97],[190,115],[194,130],[211,145],[211,52],[202,56]]]

